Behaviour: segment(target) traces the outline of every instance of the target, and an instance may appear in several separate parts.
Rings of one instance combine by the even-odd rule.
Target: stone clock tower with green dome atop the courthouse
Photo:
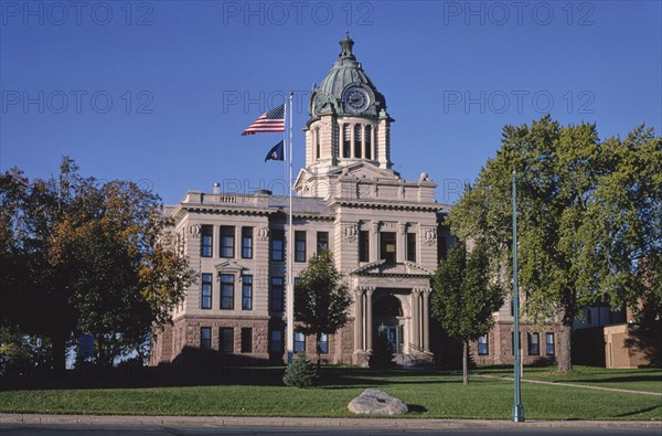
[[[306,124],[306,168],[295,189],[301,196],[331,196],[338,177],[372,167],[371,177],[398,179],[392,170],[386,99],[363,71],[349,34],[327,77],[312,88]]]

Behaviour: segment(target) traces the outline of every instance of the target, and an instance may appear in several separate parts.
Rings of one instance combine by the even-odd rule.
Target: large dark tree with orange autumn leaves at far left
[[[58,370],[66,341],[82,333],[94,336],[100,364],[140,352],[194,279],[168,244],[172,223],[158,195],[77,170],[64,158],[57,178],[0,178],[0,316],[50,337]]]

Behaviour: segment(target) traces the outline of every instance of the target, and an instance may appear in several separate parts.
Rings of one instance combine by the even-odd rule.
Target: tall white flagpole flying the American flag
[[[287,364],[292,363],[295,349],[295,278],[292,277],[292,247],[293,247],[293,230],[292,230],[292,95],[289,95],[289,152],[287,153],[289,161],[289,213],[288,213],[288,236],[287,236],[287,295],[286,317],[287,317]]]

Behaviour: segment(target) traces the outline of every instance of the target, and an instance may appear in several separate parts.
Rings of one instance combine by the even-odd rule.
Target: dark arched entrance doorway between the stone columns
[[[393,294],[383,295],[374,302],[374,338],[385,334],[391,347],[391,352],[399,354],[405,349],[405,322],[401,300]]]

